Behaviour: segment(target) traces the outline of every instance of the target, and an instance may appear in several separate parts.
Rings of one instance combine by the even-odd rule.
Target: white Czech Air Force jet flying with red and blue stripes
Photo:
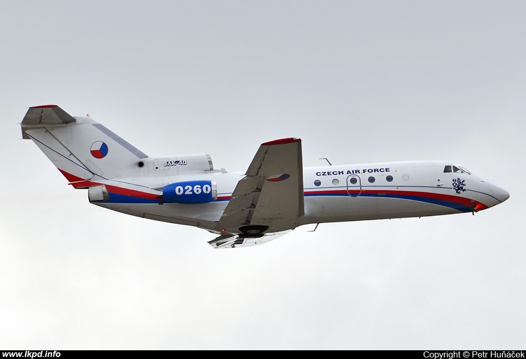
[[[208,154],[149,157],[57,105],[30,107],[21,126],[90,203],[206,229],[214,248],[261,245],[307,224],[474,214],[510,196],[448,161],[303,167],[298,138],[262,143],[243,173],[216,170]]]

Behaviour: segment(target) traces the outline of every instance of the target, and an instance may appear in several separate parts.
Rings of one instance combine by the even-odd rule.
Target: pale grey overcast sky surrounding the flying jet
[[[524,19],[521,1],[2,2],[0,347],[524,347]],[[449,160],[511,197],[214,250],[67,186],[19,140],[48,103],[150,156],[245,171],[295,136],[305,166]]]

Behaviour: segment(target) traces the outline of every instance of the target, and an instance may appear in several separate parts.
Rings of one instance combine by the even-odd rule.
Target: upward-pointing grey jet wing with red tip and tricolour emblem
[[[300,139],[261,144],[216,229],[257,236],[294,229],[304,215]]]

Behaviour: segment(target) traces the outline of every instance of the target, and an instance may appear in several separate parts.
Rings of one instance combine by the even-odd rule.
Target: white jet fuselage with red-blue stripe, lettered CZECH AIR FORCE
[[[300,225],[477,212],[509,197],[502,188],[468,172],[444,173],[446,166],[454,165],[446,161],[407,161],[306,167],[305,215]],[[243,176],[241,172],[214,170],[119,181],[104,179],[96,182],[107,186],[112,200],[94,203],[130,215],[214,230],[215,221]],[[217,183],[217,200],[166,203],[155,199],[158,189],[150,188],[199,179]]]

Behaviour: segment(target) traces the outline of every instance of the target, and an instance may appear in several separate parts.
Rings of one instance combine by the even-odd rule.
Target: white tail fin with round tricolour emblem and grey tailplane
[[[128,178],[148,157],[89,117],[72,117],[57,105],[30,107],[22,138],[33,140],[69,182]]]

